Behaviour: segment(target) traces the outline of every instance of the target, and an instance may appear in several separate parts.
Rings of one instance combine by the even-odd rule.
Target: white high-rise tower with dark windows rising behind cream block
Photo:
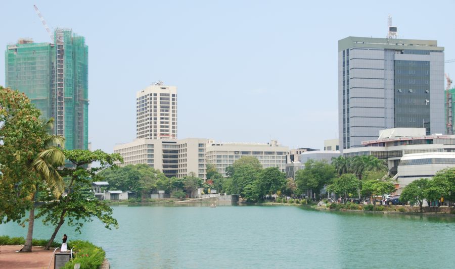
[[[177,87],[158,82],[136,93],[136,138],[177,138]]]

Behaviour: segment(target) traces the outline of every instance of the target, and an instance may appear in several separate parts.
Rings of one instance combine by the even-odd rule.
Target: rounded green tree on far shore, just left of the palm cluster
[[[310,197],[314,193],[314,195],[319,197],[324,185],[331,183],[335,176],[335,168],[327,164],[326,160],[309,159],[305,163],[305,168],[296,172],[297,191],[300,193],[306,192]]]

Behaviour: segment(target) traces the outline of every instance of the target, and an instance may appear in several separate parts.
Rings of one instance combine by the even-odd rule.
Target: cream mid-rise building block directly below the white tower
[[[167,177],[186,177],[193,172],[205,179],[205,146],[207,139],[136,139],[114,146],[123,157],[119,166],[147,164]]]

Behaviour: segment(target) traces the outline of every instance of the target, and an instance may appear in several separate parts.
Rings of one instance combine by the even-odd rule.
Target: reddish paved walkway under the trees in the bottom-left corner
[[[48,268],[54,250],[43,250],[43,247],[33,247],[32,252],[16,253],[16,250],[22,247],[17,245],[0,245],[0,268]],[[52,262],[50,268],[54,268],[54,262]]]

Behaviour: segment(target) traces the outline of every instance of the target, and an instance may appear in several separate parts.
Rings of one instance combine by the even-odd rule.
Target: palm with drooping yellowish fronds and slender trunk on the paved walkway
[[[36,173],[40,180],[45,182],[45,185],[53,191],[54,195],[58,198],[64,191],[64,184],[62,177],[57,171],[57,167],[65,164],[65,155],[60,150],[63,146],[65,138],[59,135],[50,135],[53,128],[54,118],[42,122],[42,129],[39,136],[42,138],[42,150],[38,153],[36,159],[31,163],[31,170]],[[30,195],[30,200],[34,201],[38,186],[34,186],[34,191]],[[24,252],[30,252],[32,247],[33,238],[33,225],[35,220],[35,206],[32,202],[30,213],[28,217],[28,231],[25,245],[21,249]]]

